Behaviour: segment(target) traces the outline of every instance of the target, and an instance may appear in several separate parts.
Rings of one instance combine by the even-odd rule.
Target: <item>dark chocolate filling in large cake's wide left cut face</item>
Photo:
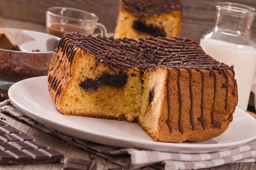
[[[119,73],[118,75],[110,75],[104,73],[99,79],[93,81],[92,79],[86,79],[79,85],[85,89],[97,89],[98,85],[109,85],[113,87],[123,87],[127,82],[127,75],[125,73]]]

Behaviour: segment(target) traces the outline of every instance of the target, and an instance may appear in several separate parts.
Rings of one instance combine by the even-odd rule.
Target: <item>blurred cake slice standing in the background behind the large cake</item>
[[[179,36],[180,0],[120,0],[115,38]]]

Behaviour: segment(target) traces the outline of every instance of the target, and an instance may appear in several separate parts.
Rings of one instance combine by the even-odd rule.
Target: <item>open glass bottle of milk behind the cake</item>
[[[238,87],[238,107],[247,110],[256,65],[256,41],[251,34],[256,9],[237,3],[216,4],[215,26],[200,45],[219,62],[233,65]]]

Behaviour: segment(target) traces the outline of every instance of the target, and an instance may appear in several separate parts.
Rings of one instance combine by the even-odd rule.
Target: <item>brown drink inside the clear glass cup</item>
[[[81,28],[79,26],[73,26],[70,24],[61,24],[56,23],[52,24],[50,27],[47,27],[47,34],[55,35],[57,37],[61,37],[65,33],[78,32],[80,34],[90,34],[90,31]]]

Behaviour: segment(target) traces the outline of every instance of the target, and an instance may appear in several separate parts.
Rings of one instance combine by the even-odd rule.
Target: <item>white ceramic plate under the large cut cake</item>
[[[49,96],[47,77],[17,82],[9,97],[29,117],[61,133],[114,147],[137,148],[177,153],[207,153],[227,150],[256,139],[256,120],[237,108],[230,127],[214,139],[202,142],[154,142],[136,123],[64,116]]]

